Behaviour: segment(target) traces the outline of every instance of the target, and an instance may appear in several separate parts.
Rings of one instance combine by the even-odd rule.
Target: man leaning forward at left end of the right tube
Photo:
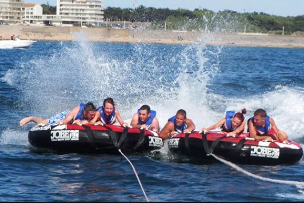
[[[195,125],[191,119],[187,118],[185,110],[180,109],[176,115],[169,118],[166,125],[159,133],[159,137],[166,140],[178,132],[191,133],[195,130]]]

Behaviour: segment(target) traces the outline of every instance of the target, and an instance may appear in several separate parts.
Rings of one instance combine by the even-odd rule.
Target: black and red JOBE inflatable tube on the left
[[[156,132],[118,125],[36,125],[28,133],[29,143],[60,153],[144,153],[163,147]]]

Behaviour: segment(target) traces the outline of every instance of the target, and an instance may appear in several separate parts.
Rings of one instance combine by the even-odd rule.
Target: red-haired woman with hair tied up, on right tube
[[[242,109],[242,112],[235,113],[234,111],[227,111],[226,117],[221,119],[219,122],[217,122],[214,125],[211,125],[207,128],[203,127],[202,131],[209,131],[216,129],[218,127],[221,128],[224,132],[227,133],[228,136],[234,136],[235,134],[242,133],[244,131],[245,127],[245,118],[243,114],[246,114],[246,109]]]

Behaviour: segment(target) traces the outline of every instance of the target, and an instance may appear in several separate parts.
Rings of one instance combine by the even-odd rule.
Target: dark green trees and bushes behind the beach
[[[55,14],[56,7],[42,5],[44,14]],[[212,32],[254,32],[300,34],[304,31],[304,15],[275,16],[263,12],[237,13],[224,10],[213,12],[207,9],[171,10],[139,6],[132,8],[107,7],[104,21],[148,22],[149,29],[168,29]]]

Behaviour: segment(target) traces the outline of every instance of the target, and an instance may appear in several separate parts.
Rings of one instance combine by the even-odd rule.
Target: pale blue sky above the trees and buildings
[[[134,5],[145,7],[208,9],[214,12],[232,10],[243,12],[264,12],[276,16],[304,15],[304,0],[102,0],[104,8],[134,8]],[[56,6],[56,0],[24,0],[25,3],[37,3]]]

